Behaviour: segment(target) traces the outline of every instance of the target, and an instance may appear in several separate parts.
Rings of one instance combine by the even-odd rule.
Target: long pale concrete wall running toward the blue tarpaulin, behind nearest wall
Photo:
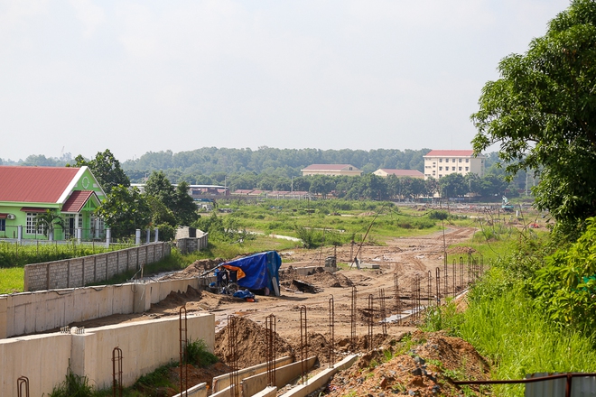
[[[199,279],[126,283],[0,295],[0,339],[65,327],[112,314],[142,313]]]

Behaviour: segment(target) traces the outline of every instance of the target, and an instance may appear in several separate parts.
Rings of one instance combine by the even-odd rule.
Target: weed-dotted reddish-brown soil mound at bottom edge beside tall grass
[[[442,332],[416,331],[412,341],[414,346],[405,353],[400,349],[409,345],[389,341],[386,349],[360,356],[355,365],[333,377],[325,392],[331,397],[350,392],[363,396],[381,393],[459,396],[464,392],[452,380],[488,379],[489,365],[462,339]],[[392,348],[397,352],[388,355]],[[479,392],[476,386],[470,386],[470,390]]]

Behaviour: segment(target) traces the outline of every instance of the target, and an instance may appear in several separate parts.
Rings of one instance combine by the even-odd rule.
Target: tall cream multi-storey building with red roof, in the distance
[[[442,177],[459,173],[463,176],[471,173],[480,178],[484,176],[484,163],[486,156],[479,154],[474,157],[474,151],[431,151],[424,156],[424,179]]]

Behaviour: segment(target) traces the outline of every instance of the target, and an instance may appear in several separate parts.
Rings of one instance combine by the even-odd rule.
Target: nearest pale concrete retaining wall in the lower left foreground
[[[188,336],[213,351],[215,316],[188,317]],[[64,381],[70,367],[105,389],[112,382],[112,351],[122,349],[123,385],[179,357],[178,318],[88,328],[85,334],[49,334],[0,340],[0,395],[16,395],[19,376],[29,378],[30,395],[46,395]]]

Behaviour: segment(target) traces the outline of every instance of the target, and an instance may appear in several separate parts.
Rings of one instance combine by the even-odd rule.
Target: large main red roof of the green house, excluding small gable
[[[56,203],[79,168],[0,166],[0,201]]]

